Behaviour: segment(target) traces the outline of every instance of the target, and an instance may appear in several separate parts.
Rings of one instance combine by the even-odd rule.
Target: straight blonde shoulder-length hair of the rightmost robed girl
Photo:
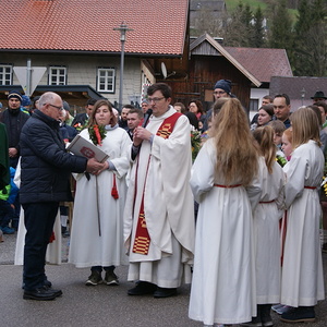
[[[293,140],[292,147],[296,148],[310,140],[320,143],[320,128],[317,114],[311,108],[300,108],[291,114]]]

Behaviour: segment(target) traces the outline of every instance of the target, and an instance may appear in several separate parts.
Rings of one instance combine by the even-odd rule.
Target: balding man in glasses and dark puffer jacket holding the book
[[[70,201],[70,173],[104,170],[105,165],[65,152],[59,133],[62,99],[45,93],[21,134],[21,203],[25,214],[23,283],[25,300],[55,300],[45,275],[46,251],[58,214],[59,202]]]

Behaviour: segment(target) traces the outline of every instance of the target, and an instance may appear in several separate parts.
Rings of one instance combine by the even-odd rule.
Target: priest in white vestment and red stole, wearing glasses
[[[153,84],[147,95],[153,114],[146,128],[134,130],[124,213],[128,279],[138,281],[129,294],[168,298],[183,281],[191,281],[191,133],[189,119],[170,106],[171,88],[166,83]]]

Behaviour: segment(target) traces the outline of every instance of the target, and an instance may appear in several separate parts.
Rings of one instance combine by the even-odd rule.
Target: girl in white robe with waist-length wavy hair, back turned
[[[195,159],[191,186],[199,204],[189,316],[240,324],[256,315],[253,210],[264,162],[241,102],[228,99]]]

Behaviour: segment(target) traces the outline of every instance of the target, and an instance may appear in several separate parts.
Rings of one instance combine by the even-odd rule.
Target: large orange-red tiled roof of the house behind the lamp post
[[[0,51],[183,53],[189,0],[0,0]]]

